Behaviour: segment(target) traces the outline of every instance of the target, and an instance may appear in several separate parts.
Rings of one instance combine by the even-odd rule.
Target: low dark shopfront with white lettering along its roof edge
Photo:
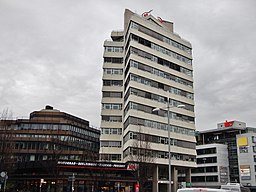
[[[134,192],[137,184],[136,170],[112,162],[28,162],[9,175],[6,192]]]

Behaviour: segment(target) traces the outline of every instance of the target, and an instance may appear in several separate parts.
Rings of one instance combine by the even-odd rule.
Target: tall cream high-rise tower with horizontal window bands
[[[190,182],[196,166],[191,44],[174,33],[172,22],[127,9],[123,30],[111,38],[104,42],[100,159],[150,157],[144,160],[155,165],[153,190],[164,191],[170,127],[175,190],[179,182]]]

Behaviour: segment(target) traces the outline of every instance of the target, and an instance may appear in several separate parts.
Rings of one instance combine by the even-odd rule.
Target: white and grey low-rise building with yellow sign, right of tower
[[[192,170],[192,185],[220,187],[225,182],[231,182],[241,183],[250,187],[251,191],[255,190],[256,139],[254,137],[256,137],[256,128],[247,127],[246,123],[241,121],[225,121],[218,123],[216,129],[198,131],[196,133],[198,167]],[[213,146],[216,149],[211,149]],[[213,153],[204,154],[209,149]],[[211,170],[210,173],[209,166],[213,165],[218,168],[214,168],[215,170]]]

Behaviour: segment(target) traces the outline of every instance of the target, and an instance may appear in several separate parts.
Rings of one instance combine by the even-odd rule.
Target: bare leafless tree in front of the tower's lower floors
[[[141,128],[135,135],[129,161],[137,165],[136,180],[140,186],[140,191],[145,192],[149,181],[152,179],[154,169],[155,154],[151,149],[150,142],[152,136],[143,133]]]

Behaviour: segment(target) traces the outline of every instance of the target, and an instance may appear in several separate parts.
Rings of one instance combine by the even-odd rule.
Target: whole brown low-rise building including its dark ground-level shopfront
[[[6,191],[110,191],[128,186],[133,175],[125,164],[98,161],[99,137],[100,130],[89,121],[51,106],[28,119],[2,115],[0,172],[7,177],[0,178],[1,187],[7,178]]]

